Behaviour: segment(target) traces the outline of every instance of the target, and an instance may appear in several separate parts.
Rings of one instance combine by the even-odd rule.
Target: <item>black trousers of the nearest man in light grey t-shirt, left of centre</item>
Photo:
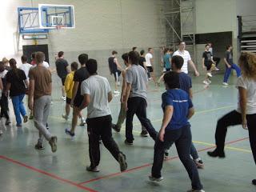
[[[90,166],[98,166],[100,162],[100,150],[99,139],[102,138],[102,142],[107,150],[118,161],[118,154],[122,153],[114,139],[112,138],[112,118],[111,115],[99,117],[99,118],[87,118],[87,132],[89,137],[89,154],[90,154]]]

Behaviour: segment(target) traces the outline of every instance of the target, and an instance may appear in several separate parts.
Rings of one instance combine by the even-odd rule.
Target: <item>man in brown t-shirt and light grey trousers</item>
[[[34,126],[39,131],[38,143],[34,146],[36,150],[44,150],[43,138],[49,142],[52,152],[57,150],[57,137],[50,134],[46,124],[50,114],[51,90],[52,81],[50,70],[42,65],[45,59],[45,54],[37,52],[35,61],[37,66],[29,72],[30,78],[30,93],[29,93],[29,108],[33,110]]]

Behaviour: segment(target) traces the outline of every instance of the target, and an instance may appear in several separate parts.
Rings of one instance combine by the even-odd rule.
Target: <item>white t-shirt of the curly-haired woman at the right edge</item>
[[[246,114],[256,114],[256,81],[240,76],[236,87],[242,87],[247,90]],[[238,94],[238,112],[241,113]]]

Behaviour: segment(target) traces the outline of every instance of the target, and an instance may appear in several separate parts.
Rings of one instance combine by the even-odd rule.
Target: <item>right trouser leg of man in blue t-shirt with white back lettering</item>
[[[193,160],[190,158],[191,147],[191,131],[190,126],[182,127],[182,135],[175,142],[175,146],[178,151],[178,157],[180,158],[183,166],[185,166],[187,173],[190,176],[192,182],[191,186],[193,190],[202,190],[202,184],[200,182],[198,169],[195,166]]]

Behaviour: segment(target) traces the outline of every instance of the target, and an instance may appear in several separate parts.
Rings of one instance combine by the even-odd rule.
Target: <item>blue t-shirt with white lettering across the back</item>
[[[163,111],[165,111],[166,106],[174,106],[174,113],[166,130],[178,130],[183,126],[190,125],[187,115],[189,109],[193,107],[193,103],[184,90],[166,90],[166,92],[162,94]]]

